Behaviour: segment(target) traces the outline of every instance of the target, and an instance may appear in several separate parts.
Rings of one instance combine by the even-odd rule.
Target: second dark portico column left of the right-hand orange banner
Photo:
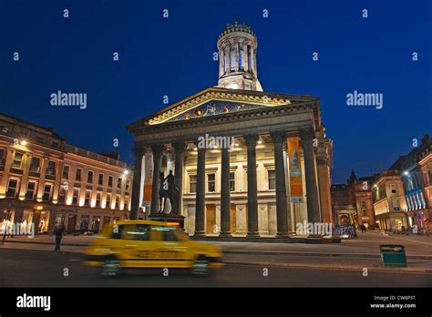
[[[243,136],[248,147],[248,236],[258,235],[258,195],[256,184],[256,142],[258,135]]]

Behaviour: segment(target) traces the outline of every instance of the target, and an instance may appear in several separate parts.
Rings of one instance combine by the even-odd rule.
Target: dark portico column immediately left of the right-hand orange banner
[[[283,142],[285,133],[283,131],[270,132],[274,144],[274,167],[276,174],[276,218],[277,218],[277,235],[286,236],[291,231],[291,210],[287,211],[286,204],[286,184],[285,171],[283,164]]]

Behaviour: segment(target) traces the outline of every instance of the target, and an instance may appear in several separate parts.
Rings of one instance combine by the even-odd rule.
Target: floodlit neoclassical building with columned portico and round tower
[[[191,235],[288,236],[332,222],[332,140],[316,97],[264,92],[257,38],[221,32],[219,82],[128,126],[135,136],[131,219],[159,212],[159,173],[172,170]]]

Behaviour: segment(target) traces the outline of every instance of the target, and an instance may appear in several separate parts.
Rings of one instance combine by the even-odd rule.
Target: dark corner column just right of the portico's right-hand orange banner
[[[306,180],[307,219],[309,222],[320,220],[320,203],[316,184],[314,162],[314,130],[312,128],[300,130],[304,153],[304,172]]]

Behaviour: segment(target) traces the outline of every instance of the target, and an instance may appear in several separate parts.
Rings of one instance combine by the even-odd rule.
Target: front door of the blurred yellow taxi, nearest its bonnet
[[[152,226],[150,237],[153,244],[155,265],[161,268],[188,268],[188,248],[178,240],[176,227]]]

